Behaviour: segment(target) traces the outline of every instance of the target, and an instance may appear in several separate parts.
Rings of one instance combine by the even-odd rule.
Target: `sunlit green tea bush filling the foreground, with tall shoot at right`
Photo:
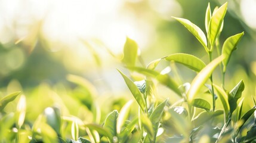
[[[0,142],[255,142],[256,108],[243,108],[243,79],[226,88],[227,65],[244,34],[219,41],[226,11],[227,3],[214,11],[208,4],[206,35],[191,21],[173,17],[201,43],[206,62],[176,53],[137,66],[137,43],[127,38],[122,63],[130,76],[117,70],[130,97],[98,97],[92,83],[71,74],[70,87],[42,83],[26,91],[36,96],[13,92],[2,97]],[[163,62],[170,66],[159,69]],[[183,82],[176,63],[196,72],[191,83]],[[170,91],[161,92],[159,86]]]

